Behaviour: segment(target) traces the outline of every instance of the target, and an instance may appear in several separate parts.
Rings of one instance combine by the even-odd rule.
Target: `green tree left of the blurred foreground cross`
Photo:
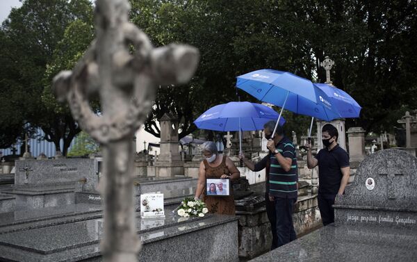
[[[73,24],[74,23],[74,24]],[[58,69],[74,65],[92,39],[92,3],[88,0],[24,0],[1,26],[0,115],[1,130],[15,138],[28,127],[40,127],[47,140],[59,146],[64,138],[66,153],[80,130],[69,111],[49,97],[49,83]],[[65,38],[63,40],[63,38]],[[47,65],[49,71],[47,71]],[[13,136],[3,140],[4,145]]]

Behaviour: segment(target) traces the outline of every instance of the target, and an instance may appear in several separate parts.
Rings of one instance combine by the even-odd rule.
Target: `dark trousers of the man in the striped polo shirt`
[[[275,197],[275,217],[277,229],[277,246],[285,245],[297,238],[293,224],[293,211],[296,199]],[[272,249],[276,248],[272,247]]]

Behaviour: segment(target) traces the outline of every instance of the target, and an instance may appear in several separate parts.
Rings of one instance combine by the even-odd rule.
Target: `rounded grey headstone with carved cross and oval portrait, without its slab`
[[[345,195],[336,197],[336,224],[361,224],[350,219],[359,215],[381,218],[378,222],[368,221],[368,225],[417,229],[416,187],[416,157],[397,149],[370,154],[359,165]],[[396,217],[399,220],[409,218],[416,223],[389,222],[388,218],[395,220]]]

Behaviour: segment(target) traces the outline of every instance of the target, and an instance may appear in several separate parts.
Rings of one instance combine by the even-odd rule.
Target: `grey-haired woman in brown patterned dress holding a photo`
[[[202,145],[202,152],[204,160],[199,166],[195,198],[199,199],[200,195],[203,195],[202,200],[206,203],[210,213],[234,215],[235,206],[233,188],[230,188],[229,196],[211,197],[206,192],[206,179],[231,179],[231,181],[233,181],[240,177],[239,170],[227,156],[218,154],[218,150],[214,142],[204,142]]]

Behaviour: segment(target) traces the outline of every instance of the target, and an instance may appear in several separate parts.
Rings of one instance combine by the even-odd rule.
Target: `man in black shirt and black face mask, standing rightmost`
[[[311,156],[311,145],[306,141],[307,167],[318,165],[318,208],[323,225],[334,222],[334,199],[342,195],[350,176],[349,156],[336,142],[338,131],[332,124],[325,124],[322,128],[321,149],[316,158]]]

